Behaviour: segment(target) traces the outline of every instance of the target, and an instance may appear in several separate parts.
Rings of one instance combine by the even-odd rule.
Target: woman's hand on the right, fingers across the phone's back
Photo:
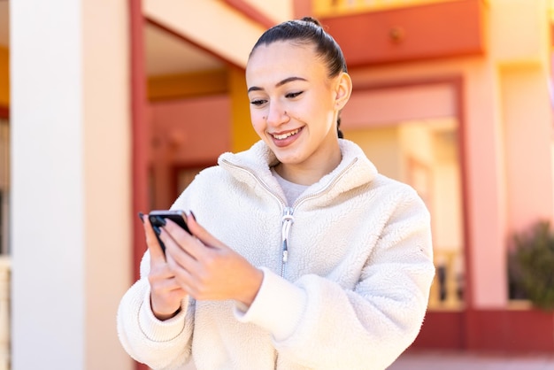
[[[189,214],[186,221],[193,235],[171,220],[166,220],[163,227],[161,239],[168,275],[174,277],[165,291],[173,291],[174,281],[180,291],[197,300],[235,299],[250,306],[258,294],[263,273],[208,233],[193,215]]]

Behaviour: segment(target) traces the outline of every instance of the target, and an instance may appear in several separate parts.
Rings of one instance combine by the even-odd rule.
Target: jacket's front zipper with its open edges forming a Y
[[[222,159],[222,162],[225,163],[227,166],[231,166],[231,167],[234,167],[236,169],[242,170],[246,173],[249,173],[250,176],[252,176],[258,182],[258,184],[262,188],[264,188],[267,191],[267,193],[269,193],[281,205],[281,210],[282,210],[282,218],[281,218],[281,277],[284,278],[286,270],[287,270],[287,262],[289,261],[290,228],[292,227],[292,224],[295,221],[294,212],[295,212],[296,208],[298,208],[298,206],[300,206],[300,204],[303,204],[305,201],[307,201],[309,199],[312,199],[312,198],[315,198],[315,197],[320,197],[323,194],[327,193],[327,191],[329,191],[329,189],[331,189],[337,181],[341,180],[344,173],[347,173],[350,170],[350,168],[352,166],[354,166],[354,164],[356,164],[356,162],[358,162],[358,158],[354,158],[354,160],[352,160],[352,162],[350,162],[350,164],[348,166],[344,167],[344,169],[342,169],[342,171],[338,175],[335,176],[333,181],[330,181],[329,183],[327,183],[327,185],[323,189],[319,190],[317,193],[308,194],[304,197],[299,197],[298,199],[296,199],[296,201],[295,201],[295,203],[293,204],[292,207],[289,207],[281,197],[279,197],[277,194],[273,193],[272,189],[269,188],[267,186],[267,184],[265,184],[264,181],[261,181],[258,178],[258,176],[256,175],[256,173],[253,173],[252,171],[250,171],[250,169],[242,167],[242,166],[236,166],[236,165],[230,163],[229,161],[227,161],[227,159]]]

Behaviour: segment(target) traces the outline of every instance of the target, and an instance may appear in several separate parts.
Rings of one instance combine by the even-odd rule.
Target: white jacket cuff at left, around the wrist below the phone
[[[141,331],[152,342],[168,342],[181,334],[185,328],[185,312],[187,311],[188,299],[181,302],[181,310],[173,318],[158,320],[152,312],[150,305],[150,289],[147,289],[141,307],[138,312],[139,327]]]

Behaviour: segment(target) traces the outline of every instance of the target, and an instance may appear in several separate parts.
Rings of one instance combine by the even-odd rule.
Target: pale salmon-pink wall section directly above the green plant
[[[540,68],[503,68],[501,76],[506,222],[519,232],[538,219],[552,220],[552,122],[543,119],[551,108]]]

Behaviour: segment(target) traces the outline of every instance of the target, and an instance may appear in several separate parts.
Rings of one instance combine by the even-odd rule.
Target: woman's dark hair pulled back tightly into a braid
[[[258,42],[250,51],[250,56],[260,45],[269,45],[273,42],[289,41],[298,44],[315,45],[316,54],[322,58],[327,65],[328,76],[335,77],[341,72],[347,72],[346,61],[342,55],[341,47],[335,39],[327,34],[318,19],[304,17],[283,22],[269,28],[260,36]],[[342,131],[339,129],[341,117],[336,120],[336,129],[339,138],[342,138]]]

